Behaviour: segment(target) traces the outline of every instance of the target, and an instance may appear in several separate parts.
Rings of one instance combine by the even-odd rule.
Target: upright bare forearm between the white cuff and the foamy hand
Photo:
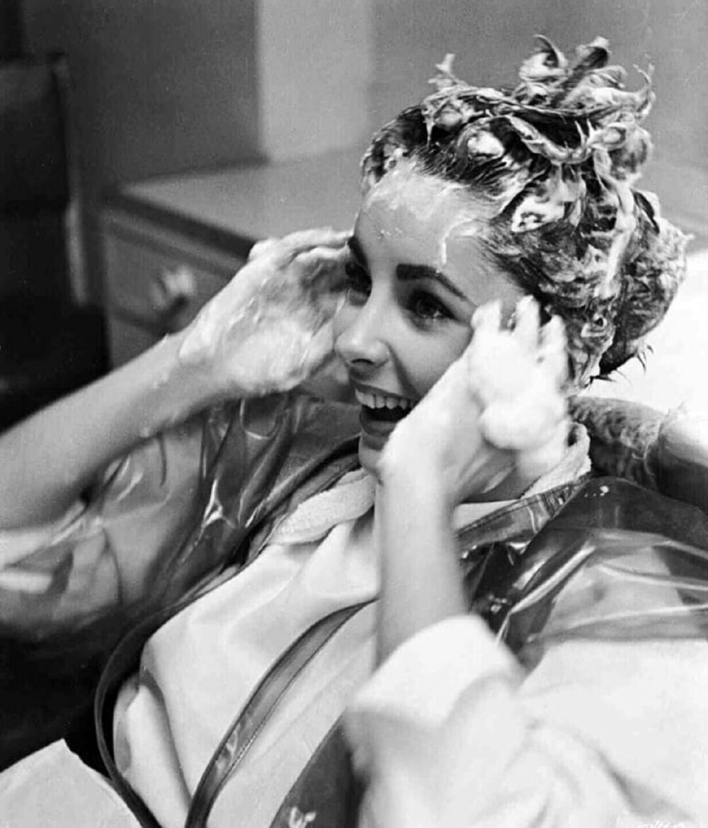
[[[383,466],[376,501],[379,660],[421,629],[467,609],[452,509],[432,469]]]

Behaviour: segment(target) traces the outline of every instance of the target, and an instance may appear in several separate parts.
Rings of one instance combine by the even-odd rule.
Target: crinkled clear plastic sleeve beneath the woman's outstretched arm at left
[[[108,651],[130,624],[243,566],[244,539],[306,496],[317,469],[353,464],[357,428],[350,407],[278,395],[145,440],[64,522],[0,535],[0,636],[36,653]]]

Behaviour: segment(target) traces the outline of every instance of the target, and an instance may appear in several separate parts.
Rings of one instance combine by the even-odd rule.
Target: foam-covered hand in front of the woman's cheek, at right
[[[537,303],[518,303],[513,328],[493,303],[474,335],[388,440],[383,466],[417,457],[461,503],[515,474],[522,489],[557,465],[567,445],[566,338],[560,320],[540,325]]]

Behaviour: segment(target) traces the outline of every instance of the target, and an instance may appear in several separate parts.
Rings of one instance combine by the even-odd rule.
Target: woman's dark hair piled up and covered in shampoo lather
[[[362,161],[364,189],[406,158],[491,206],[484,249],[564,321],[577,387],[642,358],[686,270],[686,236],[633,186],[652,147],[650,74],[628,91],[608,59],[603,38],[571,62],[539,37],[504,90],[463,83],[447,55],[436,92],[379,130]]]

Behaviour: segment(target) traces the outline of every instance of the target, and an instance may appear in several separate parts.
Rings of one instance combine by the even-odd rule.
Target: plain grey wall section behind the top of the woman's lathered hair
[[[595,36],[641,83],[633,65],[654,64],[657,105],[649,116],[657,147],[708,168],[708,2],[706,0],[375,0],[373,114],[390,117],[425,90],[446,51],[470,83],[516,77],[542,33],[570,55]]]

